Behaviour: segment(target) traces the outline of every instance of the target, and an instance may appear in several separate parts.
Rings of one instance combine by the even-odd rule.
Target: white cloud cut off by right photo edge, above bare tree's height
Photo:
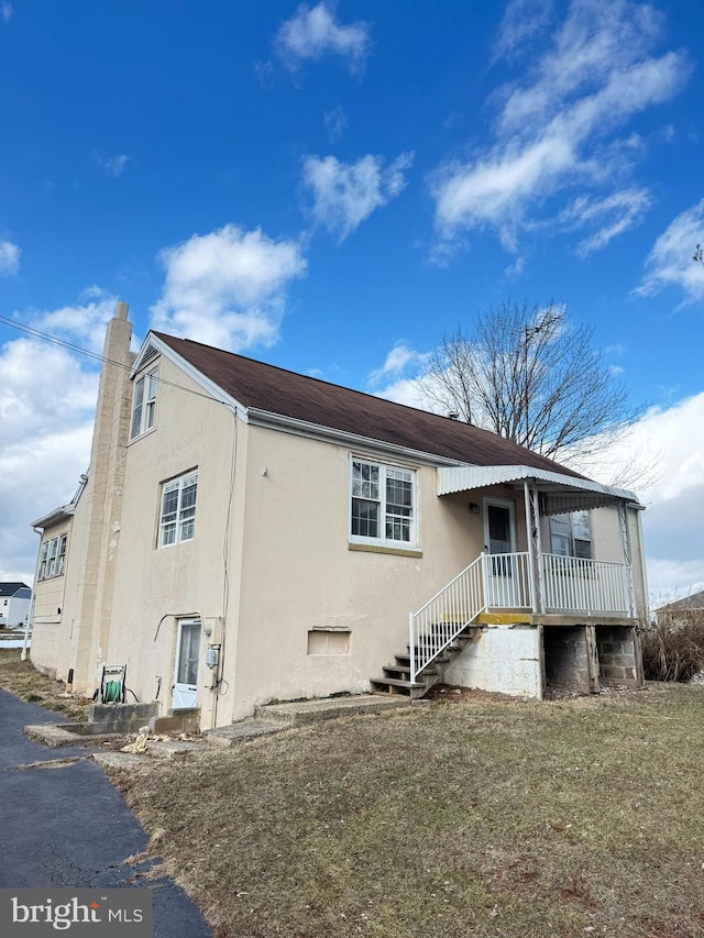
[[[688,299],[704,299],[704,264],[693,260],[704,244],[704,199],[679,214],[662,232],[646,260],[646,276],[636,290],[650,296],[664,287],[684,290]]]

